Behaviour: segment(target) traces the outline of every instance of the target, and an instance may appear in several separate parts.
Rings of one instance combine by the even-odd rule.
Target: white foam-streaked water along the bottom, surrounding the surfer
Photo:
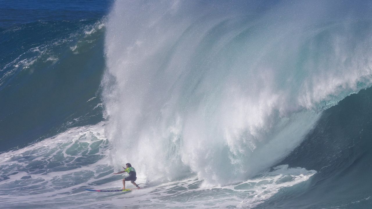
[[[59,204],[72,199],[65,202],[64,207],[124,204],[152,208],[209,208],[215,205],[222,208],[230,205],[253,208],[281,188],[307,181],[316,173],[313,170],[280,165],[273,168],[273,171],[264,171],[252,179],[223,187],[208,187],[196,176],[154,184],[139,175],[136,182],[145,183],[147,187],[126,193],[125,196],[121,193],[87,192],[84,189],[117,189],[121,186],[122,177],[114,176],[112,173],[116,169],[109,165],[110,159],[106,154],[113,147],[107,143],[103,126],[104,122],[72,128],[28,147],[0,154],[0,176],[3,178],[0,194],[6,194],[0,196],[2,204],[11,206],[17,200],[17,206],[39,205],[47,201],[50,206],[59,208]],[[100,157],[96,160],[88,160],[97,155]],[[51,165],[53,163],[56,164]]]

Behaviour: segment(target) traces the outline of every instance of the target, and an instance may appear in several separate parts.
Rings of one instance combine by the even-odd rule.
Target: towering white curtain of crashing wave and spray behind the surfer
[[[360,7],[117,1],[103,80],[113,164],[216,185],[278,163],[323,110],[371,86],[371,7]]]

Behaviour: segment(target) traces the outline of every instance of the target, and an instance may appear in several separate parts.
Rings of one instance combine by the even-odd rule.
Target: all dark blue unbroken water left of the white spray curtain
[[[102,120],[97,28],[112,3],[0,1],[0,151]]]

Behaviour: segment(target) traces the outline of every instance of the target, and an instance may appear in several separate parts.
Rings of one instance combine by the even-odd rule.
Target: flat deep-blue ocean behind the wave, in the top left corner
[[[19,0],[0,1],[0,28],[12,28],[38,21],[100,19],[113,0]]]

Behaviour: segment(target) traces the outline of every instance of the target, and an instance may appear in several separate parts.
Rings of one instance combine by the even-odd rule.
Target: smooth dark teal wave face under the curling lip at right
[[[259,208],[353,208],[371,206],[372,88],[324,111],[315,128],[281,164],[314,169],[305,184],[286,188]]]

